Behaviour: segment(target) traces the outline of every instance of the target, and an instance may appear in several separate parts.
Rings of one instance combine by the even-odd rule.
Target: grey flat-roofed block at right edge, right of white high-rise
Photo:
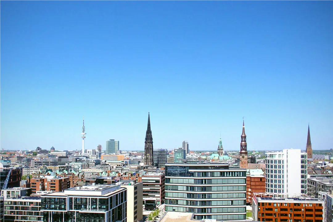
[[[318,198],[319,192],[328,192],[333,189],[333,178],[323,176],[308,178],[308,195]]]

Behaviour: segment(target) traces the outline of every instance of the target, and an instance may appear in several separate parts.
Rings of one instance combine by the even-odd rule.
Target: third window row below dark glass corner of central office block
[[[175,193],[166,192],[166,197],[217,199],[217,198],[245,198],[245,193]]]

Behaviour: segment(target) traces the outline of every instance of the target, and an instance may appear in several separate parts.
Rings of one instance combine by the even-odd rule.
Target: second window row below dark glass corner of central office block
[[[166,190],[183,190],[183,191],[245,191],[246,186],[177,186],[166,185]]]

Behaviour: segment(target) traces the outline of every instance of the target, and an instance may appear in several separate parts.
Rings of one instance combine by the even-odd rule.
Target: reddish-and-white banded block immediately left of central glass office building
[[[164,173],[146,173],[141,176],[143,182],[143,201],[146,210],[154,210],[164,203],[165,175]]]

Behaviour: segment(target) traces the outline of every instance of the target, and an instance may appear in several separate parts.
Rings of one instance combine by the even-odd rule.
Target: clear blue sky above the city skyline
[[[1,148],[333,148],[332,1],[1,1]]]

